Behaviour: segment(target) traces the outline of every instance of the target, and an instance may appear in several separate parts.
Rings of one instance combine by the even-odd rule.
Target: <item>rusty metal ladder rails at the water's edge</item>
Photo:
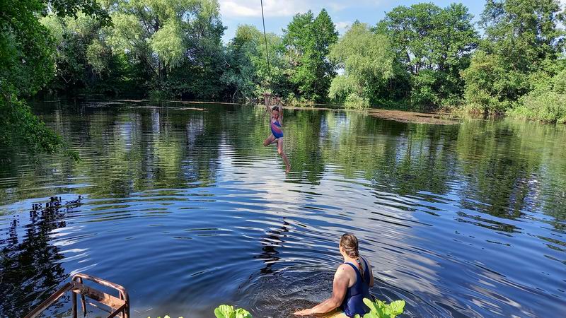
[[[100,290],[96,290],[84,285],[83,279],[117,290],[118,297],[108,295],[107,293],[103,293]],[[105,281],[102,278],[90,276],[84,273],[78,273],[74,275],[69,283],[63,285],[63,287],[53,293],[50,298],[47,298],[40,305],[37,305],[37,307],[35,307],[29,314],[25,315],[25,318],[35,318],[39,316],[44,310],[47,309],[47,307],[50,307],[54,304],[54,302],[57,302],[57,300],[59,300],[59,298],[61,298],[68,291],[71,291],[72,293],[71,298],[73,301],[73,318],[77,318],[77,294],[81,294],[81,307],[83,309],[83,317],[86,317],[86,298],[90,298],[91,300],[95,300],[99,304],[110,307],[110,310],[108,310],[107,308],[100,307],[100,305],[94,304],[93,302],[88,302],[88,305],[92,305],[93,307],[97,307],[100,310],[108,312],[110,314],[108,318],[129,318],[129,296],[126,289],[118,284],[112,283],[110,281]]]

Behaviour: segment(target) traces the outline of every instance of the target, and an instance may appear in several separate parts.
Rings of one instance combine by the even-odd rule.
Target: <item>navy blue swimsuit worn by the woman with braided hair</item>
[[[346,297],[342,301],[342,305],[340,305],[340,309],[344,311],[346,316],[354,317],[356,314],[360,316],[364,316],[369,312],[369,308],[364,304],[364,298],[371,299],[371,295],[369,294],[369,281],[370,275],[369,267],[367,266],[367,262],[364,259],[364,278],[365,281],[362,281],[362,275],[359,273],[359,269],[352,263],[346,263],[352,266],[352,269],[356,271],[356,283],[352,285],[352,287],[348,288],[346,293]]]

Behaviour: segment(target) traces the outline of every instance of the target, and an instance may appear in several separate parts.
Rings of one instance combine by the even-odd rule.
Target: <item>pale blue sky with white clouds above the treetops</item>
[[[562,0],[563,1],[563,0]],[[296,13],[304,13],[311,9],[318,14],[326,8],[340,34],[354,20],[375,25],[386,12],[395,6],[410,6],[419,2],[433,2],[445,7],[458,1],[450,0],[263,0],[265,12],[265,28],[267,32],[282,34]],[[485,0],[463,0],[470,13],[478,20]],[[224,33],[224,42],[228,42],[236,32],[238,24],[251,24],[262,29],[260,0],[219,0],[222,22],[228,28]]]

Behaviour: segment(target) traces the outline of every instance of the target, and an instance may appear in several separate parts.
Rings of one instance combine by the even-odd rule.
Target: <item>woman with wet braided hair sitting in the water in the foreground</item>
[[[363,317],[369,312],[364,298],[372,299],[369,294],[369,288],[374,286],[371,264],[365,258],[359,257],[358,239],[353,234],[342,235],[339,248],[344,257],[344,264],[340,265],[334,274],[332,297],[311,309],[300,310],[295,314],[325,314],[338,307],[347,317],[354,317],[356,314]]]

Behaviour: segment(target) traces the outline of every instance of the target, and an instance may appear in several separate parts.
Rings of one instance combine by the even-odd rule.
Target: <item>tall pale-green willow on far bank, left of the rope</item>
[[[110,3],[108,8],[114,23],[106,30],[110,47],[127,54],[155,92],[198,93],[194,86],[187,86],[197,82],[195,78],[188,81],[179,76],[196,76],[219,67],[224,26],[218,1],[129,0]],[[197,79],[214,82],[219,78],[216,73],[209,76]]]

